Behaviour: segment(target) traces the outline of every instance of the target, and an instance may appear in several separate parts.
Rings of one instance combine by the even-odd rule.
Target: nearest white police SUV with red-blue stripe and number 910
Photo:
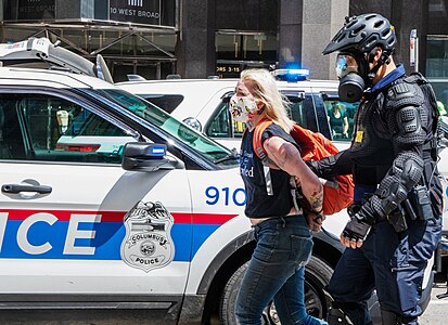
[[[254,248],[238,155],[97,78],[107,75],[101,60],[72,68],[50,60],[52,44],[34,53],[39,42],[11,47],[40,53],[51,69],[0,67],[0,308],[144,310],[151,324],[216,315],[234,324]],[[332,216],[313,236],[306,301],[318,317],[346,218]],[[272,306],[266,320],[276,322]]]

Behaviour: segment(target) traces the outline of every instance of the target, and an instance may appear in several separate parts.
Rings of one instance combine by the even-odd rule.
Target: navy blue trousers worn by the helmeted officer
[[[396,233],[388,222],[376,223],[359,249],[346,248],[328,286],[335,308],[355,325],[372,324],[367,300],[376,288],[382,309],[399,314],[404,324],[418,324],[424,270],[437,248],[441,217],[408,221]]]

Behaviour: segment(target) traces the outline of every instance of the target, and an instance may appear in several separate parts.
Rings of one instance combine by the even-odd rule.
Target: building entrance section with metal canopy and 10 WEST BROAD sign
[[[48,37],[89,60],[102,54],[117,81],[176,72],[179,0],[3,0],[1,42]]]

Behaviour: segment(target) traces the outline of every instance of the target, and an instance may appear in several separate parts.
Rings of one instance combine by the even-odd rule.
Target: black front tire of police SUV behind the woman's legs
[[[229,278],[222,291],[219,303],[220,324],[236,325],[234,315],[238,290],[248,262],[241,265]],[[324,318],[329,310],[329,297],[323,291],[324,286],[330,282],[333,269],[320,258],[311,256],[305,269],[305,303],[310,315]],[[281,324],[276,312],[276,307],[271,302],[265,310],[263,324]]]

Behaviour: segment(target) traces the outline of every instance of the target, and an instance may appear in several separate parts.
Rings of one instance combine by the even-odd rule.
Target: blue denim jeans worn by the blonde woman
[[[272,299],[282,325],[327,324],[305,308],[305,264],[312,249],[305,217],[272,218],[253,227],[257,246],[236,297],[238,324],[261,324],[263,311]]]

